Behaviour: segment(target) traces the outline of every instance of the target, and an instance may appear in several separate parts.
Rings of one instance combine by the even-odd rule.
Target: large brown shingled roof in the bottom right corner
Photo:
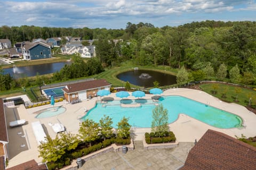
[[[190,150],[182,170],[255,169],[256,148],[221,132],[207,130]]]

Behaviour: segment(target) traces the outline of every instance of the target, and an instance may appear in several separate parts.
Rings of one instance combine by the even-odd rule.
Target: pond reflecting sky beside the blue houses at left
[[[45,63],[39,65],[29,65],[23,67],[12,67],[9,69],[3,69],[4,74],[9,73],[14,79],[22,77],[33,77],[37,73],[39,75],[50,74],[60,71],[65,64],[70,64],[70,62],[59,62],[59,63]]]

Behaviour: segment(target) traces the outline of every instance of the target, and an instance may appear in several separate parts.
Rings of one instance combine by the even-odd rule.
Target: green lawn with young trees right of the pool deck
[[[213,84],[218,84],[219,88],[217,89],[217,94],[213,94]],[[200,88],[207,92],[208,94],[217,97],[223,101],[226,101],[228,103],[237,103],[242,106],[247,106],[249,104],[249,98],[252,98],[252,105],[255,105],[256,101],[256,91],[253,89],[247,89],[243,87],[236,87],[236,86],[230,86],[228,84],[222,84],[222,83],[209,83],[209,84],[201,84]],[[225,88],[227,90],[226,98],[222,97],[223,92],[225,91]],[[235,88],[240,88],[241,92],[236,93]],[[237,97],[238,101],[235,101]]]

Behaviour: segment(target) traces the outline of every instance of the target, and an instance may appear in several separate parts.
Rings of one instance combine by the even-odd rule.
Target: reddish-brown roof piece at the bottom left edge
[[[17,166],[13,166],[11,168],[7,168],[6,170],[47,170],[47,166],[45,164],[38,165],[36,161],[29,160],[26,163],[22,163]]]

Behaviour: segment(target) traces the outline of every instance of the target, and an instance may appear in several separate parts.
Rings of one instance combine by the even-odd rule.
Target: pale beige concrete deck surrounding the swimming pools
[[[130,92],[131,93],[131,92]],[[218,98],[215,98],[209,94],[206,94],[200,90],[186,89],[186,88],[175,88],[164,91],[162,96],[178,95],[184,96],[196,101],[199,101],[204,104],[208,104],[219,109],[223,109],[227,112],[234,113],[238,116],[241,116],[243,119],[242,128],[231,128],[231,129],[219,129],[214,128],[213,126],[207,125],[201,121],[195,120],[185,114],[180,114],[177,121],[171,123],[170,130],[174,132],[178,142],[194,142],[195,139],[198,141],[203,134],[208,130],[212,129],[219,131],[225,134],[230,135],[231,137],[241,137],[241,134],[244,134],[246,137],[254,137],[255,128],[256,128],[256,115],[248,111],[245,107],[238,104],[228,104],[220,101]],[[146,94],[145,99],[151,99],[154,95]],[[120,100],[115,96],[115,93],[110,94],[108,97],[113,97],[114,99]],[[128,97],[129,99],[136,99],[135,97]],[[48,117],[48,118],[35,118],[37,112],[44,108],[52,107],[51,105],[44,105],[39,107],[34,107],[26,109],[23,105],[18,107],[5,107],[6,112],[6,123],[7,130],[9,135],[9,167],[21,164],[31,159],[35,159],[36,162],[42,162],[42,158],[39,157],[38,144],[35,139],[34,132],[31,128],[31,122],[40,121],[43,124],[43,128],[50,137],[55,138],[56,133],[52,130],[49,124],[61,123],[65,126],[67,132],[73,134],[78,133],[79,129],[79,118],[84,116],[84,108],[91,109],[95,106],[97,100],[100,100],[100,97],[94,97],[90,100],[82,101],[77,104],[67,104],[66,101],[61,101],[55,103],[54,107],[63,106],[67,108],[67,111],[63,114]],[[151,113],[149,113],[151,116]],[[15,128],[10,128],[9,122],[15,121],[16,119],[25,119],[28,123],[23,126],[18,126]],[[133,136],[135,141],[142,140],[145,132],[150,132],[150,128],[135,128],[132,127]],[[21,134],[19,133],[21,132]],[[21,147],[21,145],[26,145]],[[146,152],[145,152],[146,153]]]

